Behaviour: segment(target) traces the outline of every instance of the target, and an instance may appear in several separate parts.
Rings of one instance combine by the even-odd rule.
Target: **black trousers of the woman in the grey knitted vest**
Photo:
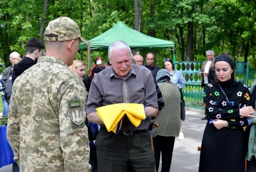
[[[160,163],[160,154],[162,154],[162,169],[161,172],[169,172],[172,163],[172,151],[175,142],[175,137],[160,136],[153,138],[154,156],[156,160],[156,169],[158,171]]]

